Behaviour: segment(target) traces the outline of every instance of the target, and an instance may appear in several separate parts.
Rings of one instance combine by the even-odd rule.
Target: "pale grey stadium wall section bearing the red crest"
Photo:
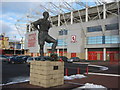
[[[75,42],[72,40],[75,37]],[[80,53],[84,51],[84,33],[80,24],[69,25],[67,49],[69,53]]]

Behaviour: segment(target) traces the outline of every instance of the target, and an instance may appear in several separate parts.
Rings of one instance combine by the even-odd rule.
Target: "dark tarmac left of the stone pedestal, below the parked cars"
[[[26,64],[2,64],[2,83],[8,83],[12,81],[12,78],[28,77],[29,68]]]

